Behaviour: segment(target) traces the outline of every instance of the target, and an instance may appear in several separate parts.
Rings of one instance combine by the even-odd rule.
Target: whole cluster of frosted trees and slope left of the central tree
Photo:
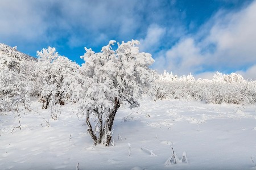
[[[14,105],[25,105],[30,96],[39,97],[43,108],[49,103],[64,104],[70,99],[79,65],[59,56],[55,48],[37,52],[38,59],[0,44],[0,108],[9,111]],[[27,107],[25,107],[27,108]]]

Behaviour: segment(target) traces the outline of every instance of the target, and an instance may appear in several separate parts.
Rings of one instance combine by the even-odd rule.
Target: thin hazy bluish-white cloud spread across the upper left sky
[[[136,1],[3,0],[0,1],[1,41],[48,44],[66,39],[68,45],[79,46],[82,42],[104,41],[101,35],[128,35],[140,27],[139,19],[130,12],[136,4]]]

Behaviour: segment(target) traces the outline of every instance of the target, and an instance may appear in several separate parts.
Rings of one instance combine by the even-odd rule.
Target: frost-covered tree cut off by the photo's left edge
[[[12,57],[17,56],[15,53],[16,48],[11,48],[11,52],[0,53],[0,111],[2,112],[16,109],[20,103],[26,109],[29,107],[31,83],[20,71],[23,60]]]

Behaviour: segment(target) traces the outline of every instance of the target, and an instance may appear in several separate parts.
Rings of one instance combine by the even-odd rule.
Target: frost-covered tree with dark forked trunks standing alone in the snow
[[[135,46],[139,41],[117,43],[118,48],[112,50],[114,43],[110,41],[101,53],[85,48],[86,53],[81,57],[85,63],[80,70],[81,87],[77,88],[77,97],[86,112],[88,133],[94,145],[102,143],[109,146],[118,108],[125,101],[131,108],[138,107],[137,100],[152,81],[148,66],[154,59],[151,54],[139,53],[139,48]],[[95,125],[92,125],[92,119],[96,120]]]

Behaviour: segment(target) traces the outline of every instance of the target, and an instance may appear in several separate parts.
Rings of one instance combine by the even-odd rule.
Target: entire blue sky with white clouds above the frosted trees
[[[256,1],[1,0],[0,42],[36,56],[47,46],[81,64],[84,47],[137,39],[152,69],[256,79]]]

